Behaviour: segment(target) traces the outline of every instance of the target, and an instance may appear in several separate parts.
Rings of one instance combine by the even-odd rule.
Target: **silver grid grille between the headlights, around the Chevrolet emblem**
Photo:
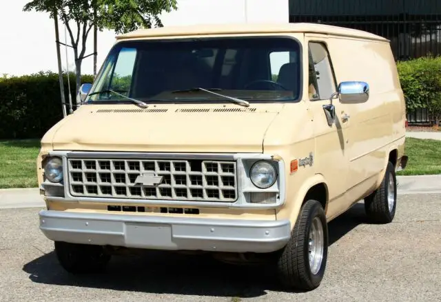
[[[68,174],[74,197],[232,202],[238,195],[234,161],[68,159]],[[135,183],[143,174],[162,181]]]

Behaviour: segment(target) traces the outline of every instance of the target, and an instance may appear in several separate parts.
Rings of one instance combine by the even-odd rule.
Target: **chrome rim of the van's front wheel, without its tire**
[[[309,230],[309,268],[312,274],[317,274],[322,266],[324,250],[323,225],[318,217],[315,217]]]

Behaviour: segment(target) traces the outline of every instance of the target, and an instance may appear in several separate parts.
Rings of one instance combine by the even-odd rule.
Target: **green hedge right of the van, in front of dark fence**
[[[422,57],[397,63],[408,112],[427,108],[433,122],[441,117],[441,57]]]

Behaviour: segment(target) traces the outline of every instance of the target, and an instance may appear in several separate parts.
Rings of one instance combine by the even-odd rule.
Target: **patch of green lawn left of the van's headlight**
[[[0,188],[36,188],[40,141],[0,141]]]

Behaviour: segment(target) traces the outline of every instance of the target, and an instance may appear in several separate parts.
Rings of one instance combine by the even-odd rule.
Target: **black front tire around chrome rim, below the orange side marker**
[[[314,219],[321,222],[322,261],[316,272],[309,264],[309,231]],[[278,276],[289,290],[310,291],[318,288],[325,274],[328,252],[328,228],[325,210],[315,200],[302,205],[300,214],[291,232],[291,239],[278,258]]]

